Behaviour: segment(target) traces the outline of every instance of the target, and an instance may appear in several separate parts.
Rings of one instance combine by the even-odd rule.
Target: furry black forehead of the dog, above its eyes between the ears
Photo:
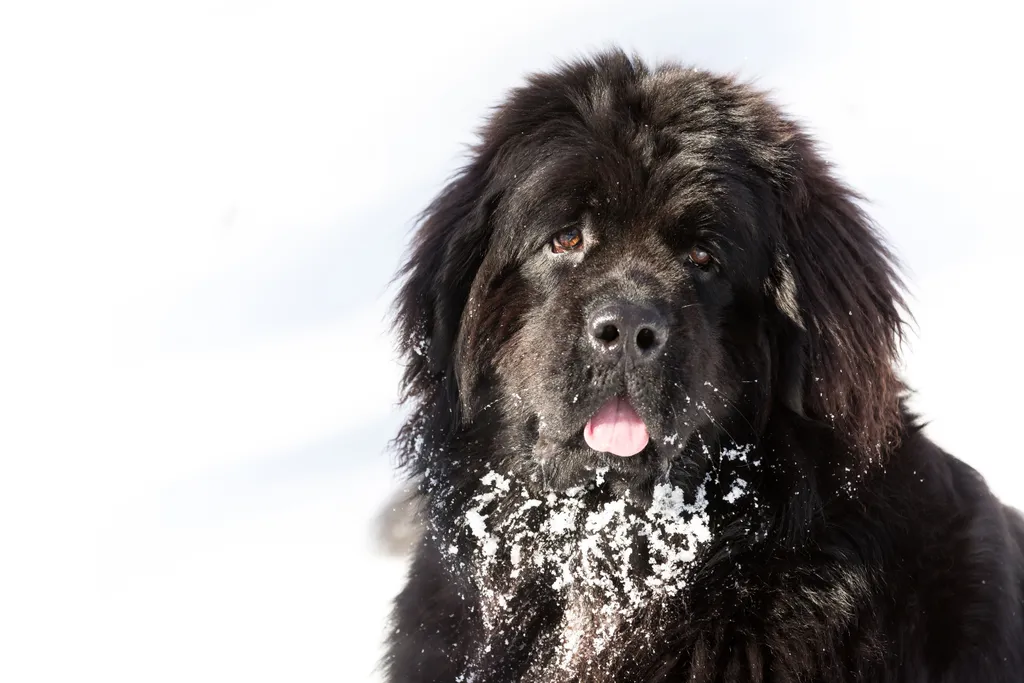
[[[791,156],[785,122],[761,93],[680,69],[545,88],[547,100],[519,91],[490,129],[503,141],[492,169],[499,242],[550,239],[585,215],[601,217],[597,229],[711,224],[757,239],[751,226]]]

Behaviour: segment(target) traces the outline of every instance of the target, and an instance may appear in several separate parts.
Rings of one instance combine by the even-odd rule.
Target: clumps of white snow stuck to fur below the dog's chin
[[[595,507],[604,474],[540,500],[524,482],[488,472],[464,515],[484,625],[500,635],[514,623],[508,597],[524,571],[528,581],[546,578],[566,605],[557,664],[567,673],[599,654],[630,620],[685,588],[697,550],[711,540],[703,484],[690,502],[681,488],[658,483],[648,506],[627,497]]]

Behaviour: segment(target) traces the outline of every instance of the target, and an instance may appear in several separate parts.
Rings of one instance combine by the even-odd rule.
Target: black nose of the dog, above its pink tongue
[[[668,326],[649,306],[621,301],[603,306],[587,324],[590,342],[602,353],[649,360],[665,346]]]

